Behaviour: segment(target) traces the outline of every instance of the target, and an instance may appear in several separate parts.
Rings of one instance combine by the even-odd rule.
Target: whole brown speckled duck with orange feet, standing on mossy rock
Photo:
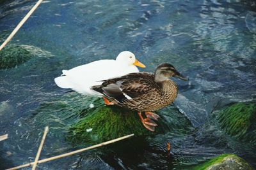
[[[159,110],[177,97],[178,88],[171,77],[188,80],[180,74],[171,64],[160,64],[155,73],[130,73],[118,78],[104,80],[102,85],[96,85],[91,89],[100,92],[104,96],[107,105],[118,106],[138,111],[142,124],[150,131],[154,131],[159,116],[151,111]],[[108,99],[111,101],[109,102]],[[147,118],[143,118],[141,112],[145,112]]]

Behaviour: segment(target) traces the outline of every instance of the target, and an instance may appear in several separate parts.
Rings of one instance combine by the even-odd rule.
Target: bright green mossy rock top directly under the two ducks
[[[92,129],[92,131],[88,129]],[[90,113],[86,113],[79,122],[70,127],[68,139],[73,143],[99,143],[128,134],[138,137],[161,131],[163,131],[161,126],[157,126],[155,132],[145,129],[138,114],[134,111],[115,106],[100,106]]]

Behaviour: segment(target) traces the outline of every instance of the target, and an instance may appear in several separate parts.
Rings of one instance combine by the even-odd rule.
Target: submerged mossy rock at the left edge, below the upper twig
[[[8,45],[0,51],[0,69],[19,66],[34,55],[19,45]]]

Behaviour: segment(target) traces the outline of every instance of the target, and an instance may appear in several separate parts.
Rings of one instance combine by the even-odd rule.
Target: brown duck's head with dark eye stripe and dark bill
[[[184,77],[182,74],[180,74],[175,67],[172,66],[172,64],[163,63],[160,64],[155,71],[155,81],[161,82],[169,80],[168,78],[171,77],[177,77],[181,80],[188,81],[188,78]]]

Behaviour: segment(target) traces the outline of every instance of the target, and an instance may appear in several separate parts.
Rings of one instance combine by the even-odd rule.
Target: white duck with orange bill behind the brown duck
[[[131,52],[119,53],[116,60],[97,60],[77,66],[69,70],[63,70],[61,76],[54,79],[58,87],[72,89],[81,94],[89,96],[102,96],[99,92],[91,90],[93,85],[100,85],[101,80],[107,80],[128,73],[138,73],[136,67],[145,67],[136,60]]]

